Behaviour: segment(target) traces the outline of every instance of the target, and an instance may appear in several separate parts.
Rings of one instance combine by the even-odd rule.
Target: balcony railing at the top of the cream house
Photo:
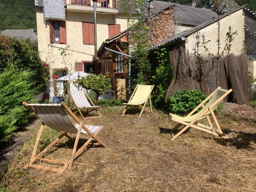
[[[92,0],[65,0],[66,4],[80,5],[80,6],[93,6]],[[117,0],[98,0],[97,7],[117,8]]]

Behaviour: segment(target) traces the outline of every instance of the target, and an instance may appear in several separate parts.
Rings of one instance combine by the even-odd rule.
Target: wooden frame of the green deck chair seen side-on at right
[[[191,116],[192,114],[194,114],[194,112],[196,112],[196,110],[198,110],[200,107],[204,108],[204,103],[206,101],[208,101],[214,94],[215,92],[220,89],[221,87],[218,87],[216,90],[214,90],[214,92],[212,92],[205,100],[203,100],[194,110],[192,110],[192,112],[190,112],[188,116]],[[200,114],[199,116],[197,116],[194,120],[192,120],[191,122],[183,122],[183,121],[180,121],[180,120],[176,120],[174,118],[172,118],[173,121],[175,122],[178,122],[178,124],[176,124],[176,126],[174,126],[174,128],[171,129],[171,132],[172,132],[172,139],[171,140],[174,140],[176,139],[178,136],[180,136],[180,134],[182,134],[184,131],[186,131],[189,127],[193,127],[193,128],[196,128],[198,130],[202,130],[204,132],[207,132],[207,133],[210,133],[210,134],[213,134],[213,135],[216,135],[216,136],[220,136],[222,138],[228,138],[226,135],[223,134],[221,128],[220,128],[220,124],[218,123],[218,120],[212,110],[212,107],[214,107],[216,104],[218,104],[224,97],[226,97],[230,92],[232,92],[232,89],[228,90],[225,94],[223,94],[220,98],[218,98],[218,100],[216,100],[216,102],[214,102],[207,110],[205,110],[202,114]],[[207,120],[208,120],[208,123],[210,125],[209,126],[206,126],[204,124],[200,124],[198,123],[197,121],[204,115],[206,114],[208,111],[210,111],[210,114],[212,115],[212,118],[217,126],[217,129],[214,128],[214,126],[212,125],[212,122],[210,120],[210,117],[209,115],[206,116]],[[173,131],[178,129],[180,126],[182,125],[186,125],[184,128],[182,128],[175,136],[173,135]]]

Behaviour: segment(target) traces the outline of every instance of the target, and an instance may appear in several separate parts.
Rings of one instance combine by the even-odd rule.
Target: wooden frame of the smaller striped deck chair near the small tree
[[[86,97],[88,98],[88,100],[90,101],[90,103],[92,104],[92,106],[95,107],[94,103],[92,102],[91,98],[90,98],[89,95],[86,93],[86,91],[83,90],[83,92],[84,92],[84,94],[86,95]],[[98,111],[98,109],[99,109],[100,107],[98,107],[98,108],[92,108],[92,109],[87,108],[87,111],[85,112],[85,115],[86,115],[86,114],[88,114],[88,113],[90,113],[90,112],[96,110],[96,112],[98,113],[98,116],[84,117],[83,114],[82,114],[82,112],[81,112],[81,110],[85,109],[86,107],[79,108],[78,105],[76,104],[76,101],[74,100],[74,98],[73,98],[72,95],[70,94],[70,91],[68,91],[68,94],[69,94],[69,96],[70,96],[70,98],[71,98],[70,109],[72,108],[73,103],[75,104],[75,106],[76,106],[76,108],[77,108],[77,111],[74,112],[74,114],[76,114],[77,112],[79,112],[83,119],[101,118],[101,117],[102,117],[102,115],[101,115],[100,112]]]

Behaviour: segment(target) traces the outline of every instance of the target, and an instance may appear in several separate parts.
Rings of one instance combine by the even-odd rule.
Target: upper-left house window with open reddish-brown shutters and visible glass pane
[[[66,44],[66,22],[50,21],[50,42],[56,44]]]

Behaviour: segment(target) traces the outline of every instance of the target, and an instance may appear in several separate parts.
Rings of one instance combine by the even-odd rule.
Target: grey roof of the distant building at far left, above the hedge
[[[36,42],[36,35],[33,29],[6,29],[1,35],[9,36],[17,39],[28,38],[31,42]]]

